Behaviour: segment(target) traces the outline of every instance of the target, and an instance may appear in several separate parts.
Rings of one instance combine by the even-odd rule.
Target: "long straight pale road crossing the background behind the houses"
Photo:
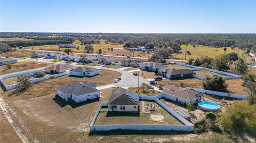
[[[18,50],[21,50],[17,48]],[[23,49],[22,49],[23,50]],[[38,51],[38,52],[51,52],[51,53],[63,53],[62,51],[46,51],[46,50],[39,50],[39,49],[26,49],[27,51]],[[73,54],[79,54],[79,55],[93,55],[93,56],[101,56],[99,54],[88,54],[88,53],[77,53],[74,52]],[[127,56],[116,56],[116,55],[103,55],[103,56],[110,56],[110,57],[119,57],[119,58],[127,58]],[[137,57],[134,56],[132,58],[138,58],[138,59],[143,59],[143,60],[148,60],[147,57]],[[177,62],[182,62],[182,60],[172,60],[172,59],[165,59],[166,61],[177,61]],[[187,60],[183,60],[183,62],[187,62]]]

